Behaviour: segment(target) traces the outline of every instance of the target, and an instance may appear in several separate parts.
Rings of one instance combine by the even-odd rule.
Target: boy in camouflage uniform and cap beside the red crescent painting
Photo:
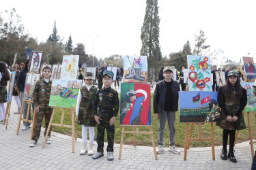
[[[94,99],[93,114],[98,124],[97,134],[97,153],[92,156],[93,159],[98,159],[103,154],[104,147],[104,131],[106,129],[108,146],[106,148],[108,160],[113,160],[113,146],[115,137],[115,118],[117,117],[119,109],[119,99],[116,90],[111,88],[113,83],[112,71],[106,70],[103,72],[103,84],[104,88],[98,90]],[[97,114],[97,107],[99,107]]]

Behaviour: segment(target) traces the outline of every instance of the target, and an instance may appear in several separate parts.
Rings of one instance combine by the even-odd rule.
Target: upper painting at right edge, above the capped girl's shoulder
[[[244,61],[244,71],[246,74],[246,80],[255,79],[256,71],[253,57],[243,56],[242,59]]]

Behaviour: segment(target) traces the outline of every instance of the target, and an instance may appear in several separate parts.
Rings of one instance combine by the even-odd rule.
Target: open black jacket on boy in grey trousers
[[[177,105],[179,101],[179,91],[180,91],[179,82],[173,80],[171,89],[173,90],[173,111],[177,111]],[[165,83],[165,80],[162,80],[156,84],[156,88],[154,91],[153,107],[154,107],[155,114],[164,112],[165,92],[166,92],[166,83]]]

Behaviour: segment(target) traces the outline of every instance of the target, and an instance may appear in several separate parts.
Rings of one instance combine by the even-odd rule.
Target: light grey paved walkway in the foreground
[[[215,147],[216,160],[212,160],[210,147],[190,148],[187,160],[183,160],[183,148],[180,148],[182,154],[179,155],[168,152],[165,148],[165,152],[158,154],[158,160],[155,160],[152,147],[124,145],[122,159],[118,160],[119,144],[115,144],[113,161],[106,159],[106,147],[104,157],[93,160],[91,156],[79,154],[81,139],[75,141],[75,152],[72,153],[71,137],[59,133],[52,133],[51,145],[46,144],[42,148],[42,132],[38,144],[29,148],[31,129],[20,129],[19,135],[16,135],[19,115],[14,115],[14,110],[15,101],[12,103],[8,129],[5,130],[5,126],[0,124],[0,169],[251,169],[251,148],[248,141],[238,143],[235,147],[238,163],[221,160],[221,146]],[[96,148],[94,141],[94,152]]]

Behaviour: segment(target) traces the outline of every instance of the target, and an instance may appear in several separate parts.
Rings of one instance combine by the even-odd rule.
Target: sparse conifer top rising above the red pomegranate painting
[[[210,45],[205,45],[206,37],[204,35],[203,30],[199,31],[199,35],[195,34],[195,49],[193,50],[194,55],[205,55],[206,52],[208,52],[208,49],[210,48]],[[210,50],[210,49],[209,49]]]

